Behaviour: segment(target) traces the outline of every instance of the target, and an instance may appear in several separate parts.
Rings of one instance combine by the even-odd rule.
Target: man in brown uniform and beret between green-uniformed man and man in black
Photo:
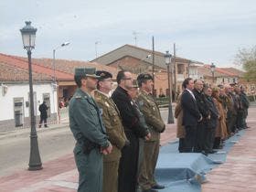
[[[98,90],[94,92],[94,99],[101,108],[103,123],[113,147],[112,154],[103,156],[103,192],[117,192],[121,149],[129,142],[123,131],[120,112],[110,98],[112,74],[98,70],[96,75],[100,76],[100,79],[97,84]]]

